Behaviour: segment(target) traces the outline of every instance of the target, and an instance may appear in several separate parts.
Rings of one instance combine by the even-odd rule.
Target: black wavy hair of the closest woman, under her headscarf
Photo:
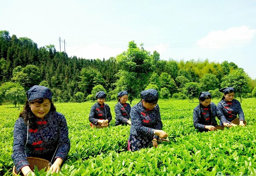
[[[51,108],[50,108],[49,112],[56,111],[56,108],[53,105],[52,100],[49,99],[49,101],[51,103]],[[22,117],[24,119],[24,122],[26,125],[28,125],[28,119],[29,119],[29,127],[32,129],[37,128],[37,124],[35,123],[35,120],[36,120],[35,114],[33,114],[33,112],[31,111],[31,108],[29,106],[30,106],[30,104],[33,104],[35,102],[38,102],[41,104],[44,102],[44,98],[34,99],[30,102],[28,100],[26,100],[25,105],[23,106],[23,111],[20,113],[20,117]]]

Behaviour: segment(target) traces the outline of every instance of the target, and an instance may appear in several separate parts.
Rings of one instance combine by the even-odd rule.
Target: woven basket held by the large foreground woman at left
[[[44,169],[44,171],[49,170],[50,168],[50,162],[46,159],[36,158],[36,157],[27,157],[27,160],[29,162],[29,167],[31,170],[34,171],[35,166],[38,168],[38,170]],[[16,168],[13,166],[12,174],[17,176]],[[20,173],[22,175],[22,173]]]

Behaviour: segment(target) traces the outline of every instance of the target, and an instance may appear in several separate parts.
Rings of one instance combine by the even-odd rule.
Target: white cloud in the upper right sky
[[[200,40],[197,44],[207,48],[224,48],[228,45],[249,44],[256,34],[256,29],[250,29],[248,26],[233,27],[226,31],[211,31]]]

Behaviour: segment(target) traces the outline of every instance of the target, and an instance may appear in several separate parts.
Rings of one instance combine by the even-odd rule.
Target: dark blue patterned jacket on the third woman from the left
[[[116,125],[127,125],[130,119],[131,106],[129,103],[118,102],[115,105]]]

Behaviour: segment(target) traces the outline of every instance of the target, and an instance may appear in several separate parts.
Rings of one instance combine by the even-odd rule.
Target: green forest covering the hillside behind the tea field
[[[127,90],[131,102],[147,88],[157,89],[163,99],[194,99],[200,91],[218,98],[218,89],[224,86],[235,87],[240,98],[256,96],[256,79],[233,62],[161,60],[157,51],[150,53],[134,41],[117,57],[68,57],[54,45],[38,48],[27,37],[0,31],[0,104],[23,103],[33,85],[51,88],[57,102],[93,100],[102,90],[111,100]]]

